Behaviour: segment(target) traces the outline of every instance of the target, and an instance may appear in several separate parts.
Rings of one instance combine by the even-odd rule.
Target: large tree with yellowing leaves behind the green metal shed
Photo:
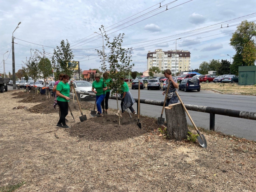
[[[230,45],[236,50],[233,57],[231,72],[238,75],[239,66],[254,65],[256,60],[256,44],[253,37],[256,36],[256,24],[244,20],[237,26],[236,32],[230,39]]]

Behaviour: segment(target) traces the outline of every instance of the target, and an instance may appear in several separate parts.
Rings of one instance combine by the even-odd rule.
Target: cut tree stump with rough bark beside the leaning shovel
[[[167,134],[171,140],[186,139],[188,135],[188,124],[186,112],[181,103],[175,103],[165,107],[165,117],[167,123]]]

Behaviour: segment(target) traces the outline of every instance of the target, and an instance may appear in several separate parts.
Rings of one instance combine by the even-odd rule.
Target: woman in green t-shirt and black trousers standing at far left
[[[65,117],[68,115],[69,92],[71,92],[73,88],[73,86],[69,86],[68,81],[69,76],[67,74],[63,75],[56,88],[56,95],[58,95],[57,103],[60,108],[60,119],[56,126],[66,129],[70,128],[65,122]],[[70,81],[70,84],[71,83],[73,83],[73,81]]]

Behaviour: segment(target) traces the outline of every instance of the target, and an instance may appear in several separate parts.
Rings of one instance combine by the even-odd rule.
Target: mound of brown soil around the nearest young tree
[[[144,123],[145,122],[145,123]],[[153,118],[142,117],[140,129],[137,125],[137,116],[128,113],[122,114],[118,125],[117,115],[105,115],[90,118],[87,121],[77,123],[67,131],[71,136],[86,140],[113,141],[126,138],[138,137],[148,131],[157,129],[159,126]],[[150,124],[150,126],[148,126]]]

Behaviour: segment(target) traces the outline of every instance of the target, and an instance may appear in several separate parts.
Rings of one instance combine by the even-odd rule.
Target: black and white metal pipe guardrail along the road
[[[89,95],[95,97],[95,93],[86,93],[86,92],[76,92],[78,95]],[[80,96],[78,97],[80,98]],[[116,96],[109,96],[109,99],[116,100]],[[117,97],[118,100],[121,100],[120,97]],[[138,99],[134,98],[138,105]],[[140,103],[148,104],[148,105],[157,105],[163,106],[164,101],[156,101],[156,100],[147,100],[147,99],[140,99]],[[230,116],[230,117],[237,117],[243,119],[252,119],[256,120],[256,113],[249,112],[249,111],[239,111],[239,110],[232,110],[232,109],[223,109],[223,108],[214,108],[214,107],[206,107],[206,106],[198,106],[198,105],[189,105],[184,104],[187,110],[190,111],[198,111],[203,113],[210,113],[210,130],[215,131],[215,114],[223,115],[223,116]],[[138,107],[138,106],[137,106]]]

